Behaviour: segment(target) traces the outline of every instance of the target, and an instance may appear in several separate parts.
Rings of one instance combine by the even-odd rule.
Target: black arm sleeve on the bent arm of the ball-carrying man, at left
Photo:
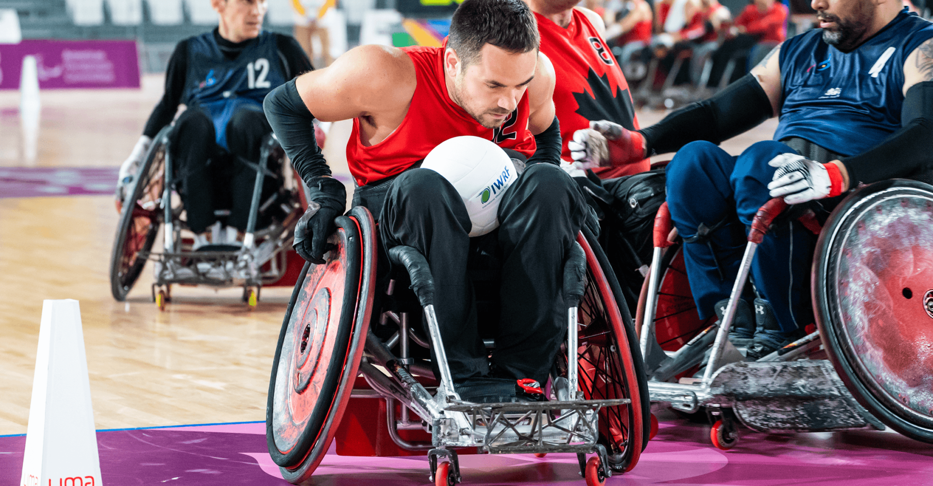
[[[266,112],[279,144],[291,159],[292,167],[298,171],[305,184],[311,184],[314,177],[330,175],[327,160],[324,160],[321,148],[314,141],[314,116],[301,101],[295,79],[270,91],[262,103],[262,109]]]

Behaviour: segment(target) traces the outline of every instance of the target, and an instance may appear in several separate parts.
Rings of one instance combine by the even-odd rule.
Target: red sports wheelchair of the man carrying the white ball
[[[372,216],[357,206],[336,224],[327,263],[301,272],[272,365],[267,442],[285,479],[309,479],[334,437],[343,455],[426,454],[437,485],[461,482],[458,453],[576,452],[591,486],[637,464],[648,441],[646,374],[592,235],[578,236],[564,264],[567,337],[543,387],[550,401],[476,404],[453,390],[433,306],[443,296],[425,257],[407,246],[384,252],[399,270],[378,280],[388,285],[377,295]],[[422,312],[426,335],[412,325]],[[420,357],[432,346],[440,376]]]

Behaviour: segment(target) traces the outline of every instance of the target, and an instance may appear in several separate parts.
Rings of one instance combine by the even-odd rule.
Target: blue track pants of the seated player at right
[[[667,166],[667,204],[682,237],[696,235],[701,223],[709,228],[727,221],[710,234],[711,244],[684,244],[690,291],[702,318],[714,315],[716,302],[729,298],[747,229],[770,199],[767,186],[775,169],[768,161],[782,153],[796,152],[780,142],[764,141],[735,157],[709,142],[692,142]],[[751,273],[761,297],[771,302],[782,331],[789,333],[811,323],[815,235],[797,221],[779,221],[783,222],[775,224],[759,244]]]

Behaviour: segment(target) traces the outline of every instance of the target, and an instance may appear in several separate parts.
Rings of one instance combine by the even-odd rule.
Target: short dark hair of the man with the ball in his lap
[[[484,44],[516,54],[538,49],[531,8],[522,0],[465,0],[453,12],[447,47],[469,65],[479,60]]]

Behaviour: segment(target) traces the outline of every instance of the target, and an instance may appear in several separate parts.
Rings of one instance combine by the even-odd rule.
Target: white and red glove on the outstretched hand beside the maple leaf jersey
[[[581,170],[620,166],[645,159],[645,137],[608,120],[591,121],[567,142],[574,166]]]

